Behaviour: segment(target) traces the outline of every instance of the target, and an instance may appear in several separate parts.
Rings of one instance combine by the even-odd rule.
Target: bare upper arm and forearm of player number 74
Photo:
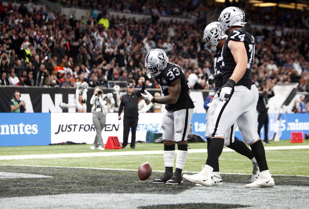
[[[245,48],[245,44],[240,41],[230,40],[227,46],[231,50],[231,53],[236,63],[235,69],[230,79],[237,83],[243,77],[247,69],[247,51]]]

